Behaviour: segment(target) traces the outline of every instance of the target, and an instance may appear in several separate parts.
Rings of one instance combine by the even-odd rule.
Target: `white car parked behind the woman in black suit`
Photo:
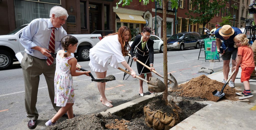
[[[153,48],[154,48],[154,52],[155,51],[159,51],[160,53],[162,53],[164,51],[164,41],[159,38],[158,36],[156,35],[151,35],[150,37],[153,41],[154,41],[154,45],[153,45]],[[129,45],[131,46],[133,41],[134,41],[135,37],[133,37],[130,41],[129,41]]]

